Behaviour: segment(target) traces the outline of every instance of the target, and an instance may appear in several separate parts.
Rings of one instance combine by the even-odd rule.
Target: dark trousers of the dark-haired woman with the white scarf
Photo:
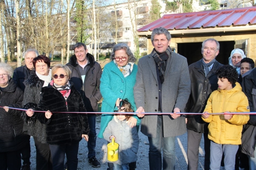
[[[43,144],[34,137],[36,149],[36,170],[52,170],[52,157],[49,144]]]

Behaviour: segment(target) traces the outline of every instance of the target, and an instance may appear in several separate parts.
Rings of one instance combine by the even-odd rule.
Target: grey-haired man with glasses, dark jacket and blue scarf
[[[212,93],[218,89],[218,78],[216,70],[221,66],[215,60],[219,53],[220,45],[214,39],[204,40],[202,43],[203,58],[198,62],[189,65],[189,74],[191,79],[191,94],[186,105],[185,112],[203,113],[207,100]],[[202,134],[204,133],[204,169],[209,170],[210,165],[210,140],[208,139],[208,124],[206,124],[201,115],[188,115],[188,170],[198,169],[198,153]]]

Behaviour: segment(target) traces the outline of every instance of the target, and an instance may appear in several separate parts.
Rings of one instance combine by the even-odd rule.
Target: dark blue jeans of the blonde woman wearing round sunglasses
[[[63,170],[65,154],[67,156],[67,169],[77,170],[79,142],[70,144],[49,144],[52,153],[52,169]]]

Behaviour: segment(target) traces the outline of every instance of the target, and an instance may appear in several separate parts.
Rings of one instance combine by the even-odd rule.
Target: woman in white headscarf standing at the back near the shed
[[[241,59],[244,57],[246,57],[244,55],[244,51],[239,48],[235,48],[231,51],[230,57],[228,58],[229,65],[232,65],[236,68],[238,75],[240,74]]]

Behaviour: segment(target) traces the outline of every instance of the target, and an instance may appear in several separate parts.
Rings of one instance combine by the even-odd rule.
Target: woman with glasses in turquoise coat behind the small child
[[[116,100],[128,99],[132,109],[137,110],[134,102],[133,88],[136,82],[137,65],[134,63],[136,58],[132,54],[128,45],[124,43],[116,44],[111,53],[111,62],[106,64],[100,79],[100,92],[103,97],[102,112],[113,112],[116,108]],[[98,137],[103,138],[103,132],[108,123],[113,119],[113,114],[102,114],[101,127]],[[128,120],[130,127],[138,127],[140,118],[136,115]],[[110,169],[113,164],[108,163]],[[129,164],[130,170],[136,168],[136,162]]]

